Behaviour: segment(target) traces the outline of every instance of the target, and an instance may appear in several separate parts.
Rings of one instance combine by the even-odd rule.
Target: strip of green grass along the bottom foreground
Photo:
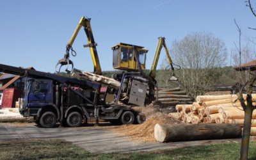
[[[0,159],[239,159],[240,143],[185,147],[129,154],[92,154],[65,140],[0,141]],[[256,159],[256,142],[249,159]]]

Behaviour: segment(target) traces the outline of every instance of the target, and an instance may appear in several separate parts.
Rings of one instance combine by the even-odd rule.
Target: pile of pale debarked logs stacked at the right
[[[256,94],[252,97],[255,101]],[[244,111],[237,99],[237,95],[200,95],[193,104],[177,105],[177,113],[169,113],[169,116],[185,124],[238,124],[243,127]],[[252,118],[251,135],[256,136],[256,110]]]

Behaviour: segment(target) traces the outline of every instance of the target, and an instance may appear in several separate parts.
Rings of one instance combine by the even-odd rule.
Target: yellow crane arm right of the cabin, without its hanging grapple
[[[152,66],[151,66],[151,69],[150,69],[150,72],[149,72],[149,76],[150,77],[153,77],[153,78],[156,77],[156,67],[157,67],[157,63],[158,63],[159,56],[160,56],[160,53],[161,53],[161,49],[162,49],[163,46],[164,46],[164,49],[165,49],[168,61],[170,63],[170,66],[172,67],[172,71],[174,70],[172,59],[170,57],[169,51],[167,49],[167,46],[165,44],[165,38],[164,37],[159,37],[158,38],[157,48],[156,48],[156,53],[155,53],[154,60],[153,60],[153,63],[152,63]]]

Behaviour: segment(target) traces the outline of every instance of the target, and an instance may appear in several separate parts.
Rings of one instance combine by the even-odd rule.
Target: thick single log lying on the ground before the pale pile
[[[212,140],[241,137],[241,127],[236,124],[156,124],[156,141]]]

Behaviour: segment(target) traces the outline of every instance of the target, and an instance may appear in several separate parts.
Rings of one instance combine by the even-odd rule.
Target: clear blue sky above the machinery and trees
[[[119,42],[148,49],[146,67],[150,68],[159,36],[165,36],[170,47],[174,39],[181,40],[189,33],[210,32],[221,38],[230,52],[234,42],[238,43],[234,19],[244,36],[256,34],[248,29],[256,27],[256,17],[244,0],[1,0],[0,63],[54,72],[82,16],[92,18],[102,70],[113,70],[111,47]],[[91,72],[92,58],[84,44],[87,40],[81,30],[73,45],[77,56],[70,59],[76,68]]]

